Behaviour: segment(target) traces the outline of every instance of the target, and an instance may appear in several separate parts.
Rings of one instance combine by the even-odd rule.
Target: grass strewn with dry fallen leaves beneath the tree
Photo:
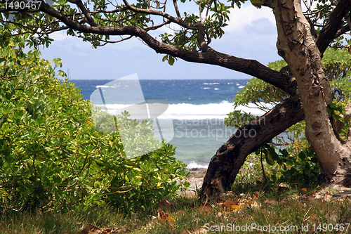
[[[255,193],[258,197],[254,197],[253,192],[258,188],[260,188],[260,193]],[[70,234],[80,233],[84,229],[84,224],[90,223],[100,229],[114,228],[115,233],[166,234],[186,233],[185,230],[188,230],[188,233],[194,233],[200,228],[219,230],[208,233],[269,233],[264,231],[264,228],[269,226],[271,228],[282,226],[283,228],[291,228],[291,230],[295,227],[298,228],[297,232],[286,229],[286,231],[277,231],[276,233],[351,233],[351,227],[347,231],[336,231],[336,228],[340,227],[336,224],[351,223],[350,198],[343,197],[340,200],[331,200],[331,191],[317,190],[317,188],[309,188],[304,193],[297,187],[289,188],[289,190],[280,188],[282,187],[272,183],[264,186],[255,183],[236,183],[233,187],[233,193],[228,193],[227,196],[221,195],[216,200],[208,200],[206,209],[200,208],[204,207],[204,204],[201,204],[196,196],[173,197],[168,200],[173,202],[175,209],[167,211],[166,214],[175,221],[165,221],[164,223],[157,218],[156,209],[152,209],[148,213],[129,214],[128,216],[109,206],[94,207],[87,211],[72,209],[65,213],[3,212],[0,218],[0,232]],[[235,197],[239,197],[238,204],[244,204],[243,208],[222,208],[222,202],[234,200]],[[247,205],[250,201],[253,203]],[[324,223],[326,224],[324,225]],[[301,230],[301,227],[306,228],[307,224],[310,230]],[[238,228],[247,225],[251,228],[250,230],[230,231],[230,227]],[[254,229],[255,225],[261,226],[263,230]],[[317,230],[318,227],[320,231]],[[314,229],[317,232],[314,232]]]

